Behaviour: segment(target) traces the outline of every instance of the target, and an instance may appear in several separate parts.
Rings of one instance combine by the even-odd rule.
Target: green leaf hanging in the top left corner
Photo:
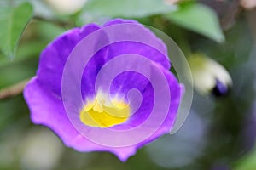
[[[13,59],[22,32],[32,17],[32,5],[22,3],[15,8],[0,7],[0,49]]]

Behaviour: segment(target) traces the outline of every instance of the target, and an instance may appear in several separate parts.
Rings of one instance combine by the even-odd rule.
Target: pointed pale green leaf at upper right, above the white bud
[[[198,3],[180,5],[177,11],[165,16],[179,26],[209,37],[216,42],[224,42],[224,34],[219,26],[218,15],[205,5]]]

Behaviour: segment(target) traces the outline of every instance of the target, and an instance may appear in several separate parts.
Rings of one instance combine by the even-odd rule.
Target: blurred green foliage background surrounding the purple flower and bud
[[[255,6],[255,0],[0,0],[0,169],[255,170]],[[125,163],[108,152],[67,148],[47,127],[32,124],[22,96],[41,50],[56,36],[117,17],[165,32],[187,58],[214,59],[233,81],[224,96],[195,91],[183,127]]]

